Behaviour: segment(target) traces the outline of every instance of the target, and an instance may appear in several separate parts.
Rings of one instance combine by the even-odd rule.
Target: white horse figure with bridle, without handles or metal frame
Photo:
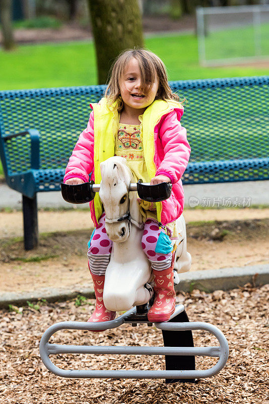
[[[101,163],[100,167],[102,181],[99,196],[106,213],[106,232],[113,241],[105,274],[103,300],[106,309],[125,311],[150,300],[153,295],[150,285],[153,277],[150,263],[141,246],[143,222],[137,192],[128,192],[133,178],[126,159],[111,157]],[[177,240],[175,254],[175,284],[179,283],[175,271],[187,272],[191,264],[190,254],[186,250],[183,215],[177,219],[176,225],[180,238]]]

